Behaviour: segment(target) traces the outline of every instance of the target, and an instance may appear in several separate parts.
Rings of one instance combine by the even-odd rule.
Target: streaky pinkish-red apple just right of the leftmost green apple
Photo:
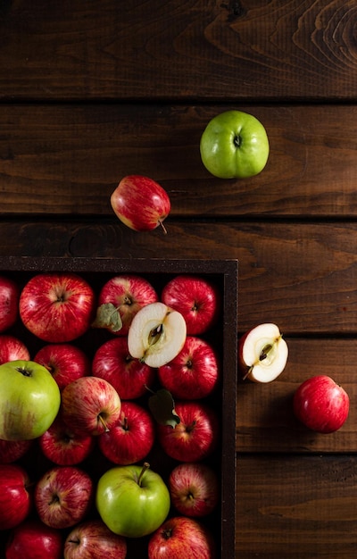
[[[118,392],[99,377],[81,377],[62,390],[62,418],[75,433],[101,435],[119,420],[120,408]]]

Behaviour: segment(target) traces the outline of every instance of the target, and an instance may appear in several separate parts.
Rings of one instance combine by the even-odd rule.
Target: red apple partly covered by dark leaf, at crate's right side
[[[219,421],[211,407],[201,400],[177,402],[180,422],[175,428],[158,425],[159,442],[171,458],[179,462],[197,462],[211,455],[219,437]]]

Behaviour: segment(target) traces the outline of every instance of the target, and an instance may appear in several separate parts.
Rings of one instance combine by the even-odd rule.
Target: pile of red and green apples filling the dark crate
[[[219,318],[201,276],[0,277],[6,559],[215,556]]]

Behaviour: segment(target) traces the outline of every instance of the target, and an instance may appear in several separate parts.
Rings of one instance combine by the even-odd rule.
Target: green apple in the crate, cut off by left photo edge
[[[40,437],[60,404],[60,388],[43,365],[22,360],[0,365],[0,438]]]

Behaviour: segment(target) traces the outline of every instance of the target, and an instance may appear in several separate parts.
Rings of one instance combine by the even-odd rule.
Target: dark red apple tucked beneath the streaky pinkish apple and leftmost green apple
[[[85,460],[95,446],[95,438],[73,432],[57,415],[46,432],[38,438],[42,454],[60,466],[72,466]]]

